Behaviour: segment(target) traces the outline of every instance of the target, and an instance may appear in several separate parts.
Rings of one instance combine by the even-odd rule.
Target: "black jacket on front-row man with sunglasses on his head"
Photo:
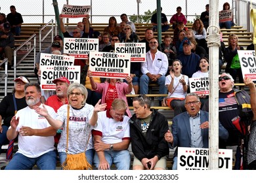
[[[136,158],[141,161],[143,158],[151,159],[154,156],[158,156],[158,159],[160,159],[169,155],[169,147],[164,139],[169,127],[163,114],[153,110],[150,125],[146,131],[146,138],[142,134],[141,122],[135,114],[133,114],[129,122],[131,148]]]

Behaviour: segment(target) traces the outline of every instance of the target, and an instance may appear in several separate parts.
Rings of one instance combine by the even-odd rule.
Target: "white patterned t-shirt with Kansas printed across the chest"
[[[85,104],[79,110],[72,108],[70,105],[70,122],[68,125],[68,154],[77,154],[86,149],[93,148],[92,141],[87,145],[88,137],[91,132],[89,120],[93,116],[93,105]],[[58,152],[66,152],[66,137],[67,137],[67,116],[68,105],[62,105],[57,111],[56,120],[63,122],[60,141],[58,142]]]

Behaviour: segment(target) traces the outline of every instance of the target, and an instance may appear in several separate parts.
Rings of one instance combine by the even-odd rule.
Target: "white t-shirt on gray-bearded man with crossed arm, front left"
[[[43,108],[43,105],[40,105]],[[56,117],[56,112],[52,107],[45,105],[50,116],[52,118]],[[22,108],[18,110],[16,118],[20,117],[16,131],[20,130],[20,127],[31,127],[32,129],[44,129],[50,127],[51,125],[45,119],[45,117],[40,116],[30,107]],[[29,158],[37,158],[42,154],[54,150],[54,137],[41,137],[41,136],[22,136],[18,135],[18,152],[27,156]]]

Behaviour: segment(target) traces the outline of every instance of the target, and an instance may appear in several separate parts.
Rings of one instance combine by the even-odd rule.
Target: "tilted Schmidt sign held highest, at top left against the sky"
[[[61,18],[81,18],[90,13],[91,6],[63,5]]]

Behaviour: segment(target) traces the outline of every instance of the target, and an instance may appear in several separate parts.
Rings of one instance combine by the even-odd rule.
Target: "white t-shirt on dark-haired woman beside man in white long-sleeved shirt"
[[[183,86],[181,84],[181,82],[179,82],[179,80],[182,78],[182,76],[184,76],[184,80],[186,82],[186,85],[188,85],[188,76],[186,75],[180,75],[179,77],[174,77],[174,82],[173,82],[173,89],[175,89],[175,91],[171,94],[170,92],[168,92],[168,97],[177,97],[177,98],[184,98],[186,97],[186,93],[183,91]],[[171,75],[166,76],[165,78],[165,86],[168,87],[168,85],[171,83]]]

